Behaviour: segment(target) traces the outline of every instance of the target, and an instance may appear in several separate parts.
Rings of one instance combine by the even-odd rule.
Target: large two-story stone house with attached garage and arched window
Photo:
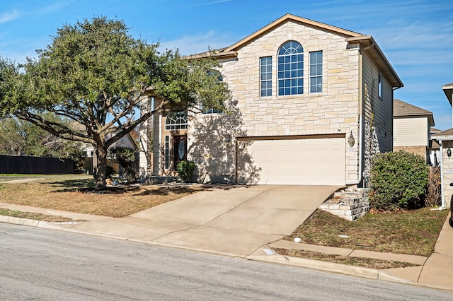
[[[229,112],[154,114],[149,176],[187,158],[199,182],[362,186],[392,151],[403,83],[372,36],[287,14],[214,58]]]

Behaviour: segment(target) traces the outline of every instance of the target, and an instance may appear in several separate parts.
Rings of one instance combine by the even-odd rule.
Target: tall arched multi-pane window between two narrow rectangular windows
[[[278,50],[278,95],[304,93],[304,49],[299,42],[286,42]]]

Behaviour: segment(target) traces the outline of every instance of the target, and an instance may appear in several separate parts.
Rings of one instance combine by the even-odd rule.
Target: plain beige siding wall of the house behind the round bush
[[[428,118],[394,119],[394,146],[428,146]]]

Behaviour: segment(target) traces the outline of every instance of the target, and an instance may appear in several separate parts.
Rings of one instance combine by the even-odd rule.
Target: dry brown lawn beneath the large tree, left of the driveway
[[[120,218],[207,189],[196,185],[153,185],[122,187],[120,191],[105,194],[82,192],[88,187],[93,187],[91,177],[51,176],[36,182],[0,184],[0,200],[4,203]]]

